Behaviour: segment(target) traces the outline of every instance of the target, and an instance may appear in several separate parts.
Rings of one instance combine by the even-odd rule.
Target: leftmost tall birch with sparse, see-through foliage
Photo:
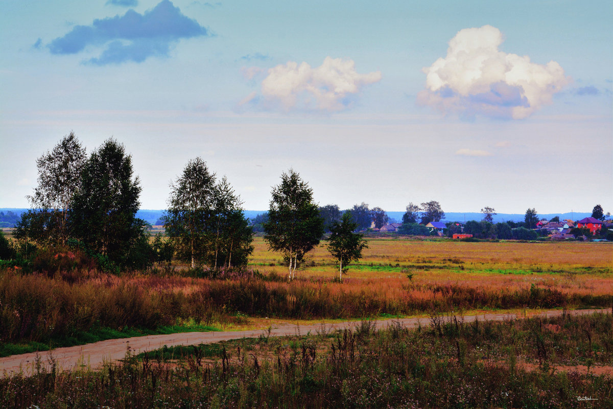
[[[32,196],[26,196],[32,208],[21,216],[15,237],[51,245],[66,244],[68,212],[85,160],[85,148],[74,132],[36,159],[38,185]]]

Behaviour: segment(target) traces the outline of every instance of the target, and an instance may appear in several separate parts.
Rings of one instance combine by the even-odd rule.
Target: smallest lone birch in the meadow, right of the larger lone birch
[[[337,261],[339,280],[343,280],[343,269],[362,258],[362,250],[368,248],[362,235],[354,233],[356,229],[357,224],[349,213],[344,213],[340,222],[336,221],[330,229],[328,251]]]

